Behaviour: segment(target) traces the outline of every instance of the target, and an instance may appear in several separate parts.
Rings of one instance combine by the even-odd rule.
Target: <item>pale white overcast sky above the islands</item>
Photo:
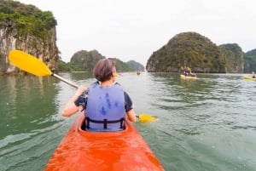
[[[61,60],[79,50],[143,66],[175,35],[195,31],[217,45],[256,48],[255,0],[16,0],[51,11]]]

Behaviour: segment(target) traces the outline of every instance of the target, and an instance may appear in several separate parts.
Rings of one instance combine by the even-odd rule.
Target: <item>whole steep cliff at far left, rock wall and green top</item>
[[[0,75],[24,73],[9,63],[8,54],[19,49],[58,71],[56,21],[52,14],[19,2],[0,2]]]

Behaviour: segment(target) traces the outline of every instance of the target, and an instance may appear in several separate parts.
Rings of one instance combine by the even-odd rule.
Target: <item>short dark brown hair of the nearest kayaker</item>
[[[115,63],[111,59],[102,59],[96,63],[93,69],[93,75],[100,82],[110,80],[113,71],[115,71]]]

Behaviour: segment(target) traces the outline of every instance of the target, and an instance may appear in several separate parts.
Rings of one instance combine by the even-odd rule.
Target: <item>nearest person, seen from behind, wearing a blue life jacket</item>
[[[97,79],[90,88],[79,86],[73,98],[67,102],[62,116],[70,117],[84,111],[85,127],[90,131],[118,131],[125,127],[125,117],[136,121],[130,96],[119,83],[115,83],[117,72],[111,59],[99,60],[93,74]]]

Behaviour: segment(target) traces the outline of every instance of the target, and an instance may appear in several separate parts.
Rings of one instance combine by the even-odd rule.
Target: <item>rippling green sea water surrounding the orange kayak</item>
[[[89,85],[90,73],[60,74]],[[256,82],[241,74],[121,73],[135,123],[166,170],[256,170]],[[76,116],[60,111],[75,89],[54,77],[0,77],[0,170],[44,170]]]

